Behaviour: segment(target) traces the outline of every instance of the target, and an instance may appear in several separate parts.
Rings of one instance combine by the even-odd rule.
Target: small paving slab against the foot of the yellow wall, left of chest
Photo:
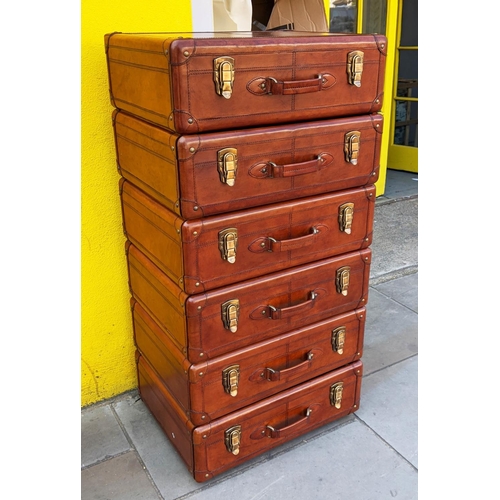
[[[109,405],[96,406],[82,412],[82,467],[95,464],[127,450],[130,450],[129,442]]]

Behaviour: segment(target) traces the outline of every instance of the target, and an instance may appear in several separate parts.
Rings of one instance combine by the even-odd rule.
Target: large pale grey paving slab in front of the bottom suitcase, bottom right
[[[358,420],[183,499],[417,500],[418,473]]]

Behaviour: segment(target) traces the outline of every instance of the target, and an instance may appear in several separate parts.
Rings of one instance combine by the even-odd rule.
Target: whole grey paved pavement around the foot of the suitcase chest
[[[82,409],[82,500],[418,498],[417,175],[375,206],[359,410],[197,483],[137,391]]]

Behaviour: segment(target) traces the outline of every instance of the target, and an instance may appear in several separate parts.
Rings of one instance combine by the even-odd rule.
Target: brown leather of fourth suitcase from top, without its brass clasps
[[[133,297],[192,362],[212,359],[256,342],[366,305],[371,249],[315,261],[252,280],[187,295],[137,247],[128,247],[129,283]],[[350,266],[347,295],[337,291],[336,273]],[[272,309],[288,308],[316,298],[307,314],[272,319]],[[221,305],[238,299],[238,329],[221,319]]]

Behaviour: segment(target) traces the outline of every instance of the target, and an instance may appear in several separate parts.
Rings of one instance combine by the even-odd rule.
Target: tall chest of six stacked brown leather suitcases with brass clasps
[[[386,39],[105,45],[139,391],[201,482],[359,407]]]

